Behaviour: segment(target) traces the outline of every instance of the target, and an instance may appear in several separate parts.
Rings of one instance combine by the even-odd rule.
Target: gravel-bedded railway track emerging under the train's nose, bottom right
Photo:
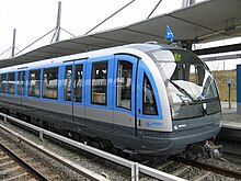
[[[152,167],[191,181],[241,180],[241,171],[231,169],[234,168],[236,165],[230,162],[228,163],[223,160],[205,162],[173,156]],[[241,168],[241,166],[238,167]]]

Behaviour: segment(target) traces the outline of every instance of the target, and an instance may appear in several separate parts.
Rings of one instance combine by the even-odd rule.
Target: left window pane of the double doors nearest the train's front
[[[72,66],[67,66],[65,73],[65,86],[64,86],[65,101],[71,101],[71,83],[72,83]]]

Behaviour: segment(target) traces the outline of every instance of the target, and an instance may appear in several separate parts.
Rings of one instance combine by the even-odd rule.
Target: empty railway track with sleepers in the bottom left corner
[[[42,145],[34,146],[35,143],[26,144],[19,138],[5,129],[0,132],[0,180],[107,180]]]

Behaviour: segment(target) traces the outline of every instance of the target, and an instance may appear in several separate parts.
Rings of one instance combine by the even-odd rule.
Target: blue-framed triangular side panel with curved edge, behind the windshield
[[[140,134],[149,131],[163,129],[162,106],[160,94],[153,77],[144,63],[139,64],[137,90],[137,128]]]

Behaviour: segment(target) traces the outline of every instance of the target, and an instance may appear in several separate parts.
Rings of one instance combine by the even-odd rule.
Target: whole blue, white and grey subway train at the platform
[[[215,137],[221,106],[186,49],[129,44],[0,69],[0,109],[103,149],[170,156]]]

